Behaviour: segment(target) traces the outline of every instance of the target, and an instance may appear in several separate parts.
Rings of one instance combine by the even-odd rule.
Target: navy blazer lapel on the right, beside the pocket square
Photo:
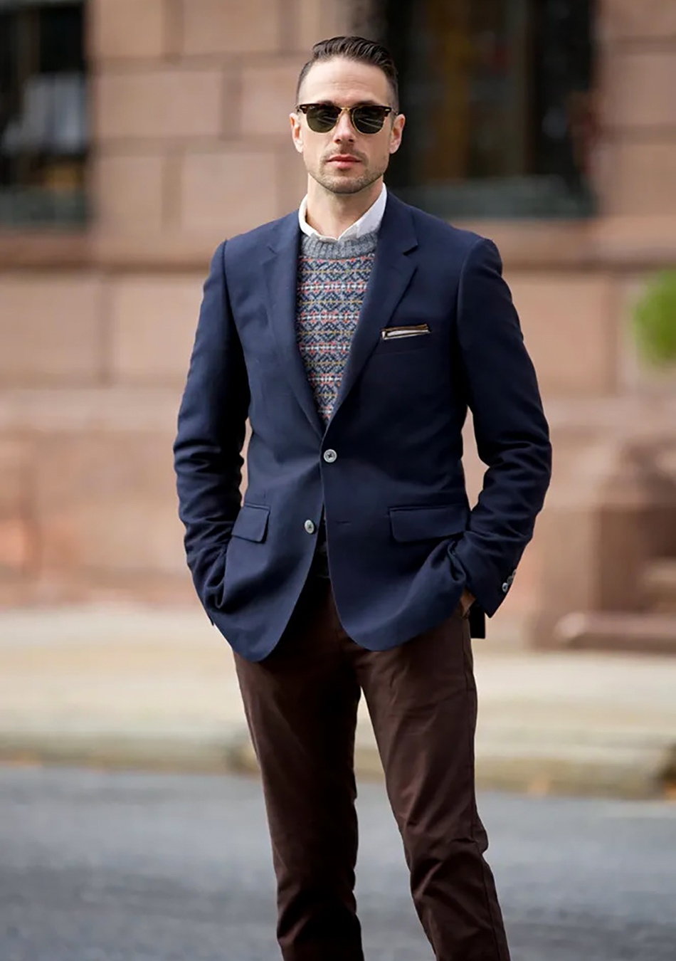
[[[367,358],[387,327],[416,271],[412,253],[418,246],[410,209],[388,191],[387,204],[378,232],[374,268],[367,284],[357,326],[352,334],[350,353],[331,420],[356,382]]]

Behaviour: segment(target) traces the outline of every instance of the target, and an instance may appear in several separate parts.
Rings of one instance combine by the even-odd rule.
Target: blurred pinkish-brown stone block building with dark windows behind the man
[[[297,207],[298,72],[352,31],[400,65],[388,184],[495,239],[539,372],[555,475],[495,624],[653,603],[676,402],[627,315],[676,261],[673,0],[0,0],[0,604],[194,603],[171,442],[208,259]]]

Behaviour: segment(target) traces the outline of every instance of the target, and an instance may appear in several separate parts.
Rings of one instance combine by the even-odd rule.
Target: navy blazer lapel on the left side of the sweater
[[[305,416],[314,430],[322,436],[324,426],[296,339],[296,284],[300,235],[298,214],[290,213],[278,224],[277,235],[269,244],[272,254],[263,260],[262,268],[267,290],[268,317],[277,341],[279,364],[288,377]]]

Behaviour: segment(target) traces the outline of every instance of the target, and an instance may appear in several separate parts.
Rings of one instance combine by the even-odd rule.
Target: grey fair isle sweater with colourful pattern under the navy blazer
[[[302,235],[296,337],[325,425],[340,388],[376,243],[377,231],[335,242]]]

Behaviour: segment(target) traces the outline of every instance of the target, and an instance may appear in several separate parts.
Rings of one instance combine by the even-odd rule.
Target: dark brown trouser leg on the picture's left
[[[260,765],[285,961],[363,961],[354,899],[359,687],[329,582],[310,579],[278,647],[235,655]]]

